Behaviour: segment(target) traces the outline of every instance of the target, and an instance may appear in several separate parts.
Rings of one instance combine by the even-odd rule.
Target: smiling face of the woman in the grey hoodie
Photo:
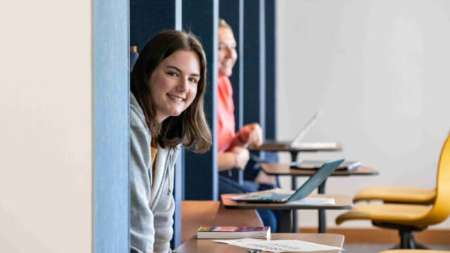
[[[178,116],[191,105],[200,80],[200,60],[193,51],[179,50],[162,60],[147,81],[156,110],[162,122]]]

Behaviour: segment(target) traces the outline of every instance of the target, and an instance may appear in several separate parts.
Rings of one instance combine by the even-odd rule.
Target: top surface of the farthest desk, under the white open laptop
[[[326,141],[304,142],[304,146],[293,148],[286,141],[271,141],[262,143],[259,147],[249,147],[249,150],[263,150],[263,151],[339,151],[342,150],[342,144],[334,142],[334,146],[323,145],[317,146],[317,143],[330,143]]]

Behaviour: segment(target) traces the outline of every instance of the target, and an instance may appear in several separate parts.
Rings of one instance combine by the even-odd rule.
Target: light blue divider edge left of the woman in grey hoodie
[[[94,252],[129,252],[129,4],[94,0]]]

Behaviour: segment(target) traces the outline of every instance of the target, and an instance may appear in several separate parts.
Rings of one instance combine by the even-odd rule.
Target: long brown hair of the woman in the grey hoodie
[[[151,101],[148,80],[162,60],[175,51],[193,51],[200,60],[200,79],[197,95],[191,105],[179,116],[156,121],[155,106]],[[150,84],[151,85],[151,84]],[[205,119],[203,97],[206,90],[206,58],[202,45],[191,33],[168,30],[148,41],[139,53],[131,71],[131,92],[136,97],[152,138],[157,138],[162,148],[174,148],[182,143],[195,153],[205,153],[212,145],[211,131]]]

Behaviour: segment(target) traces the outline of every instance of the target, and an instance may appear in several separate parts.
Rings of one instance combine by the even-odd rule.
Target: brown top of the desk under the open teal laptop
[[[353,201],[349,195],[311,194],[308,197],[333,197],[335,205],[291,205],[289,203],[249,203],[236,202],[230,197],[243,194],[222,194],[221,200],[226,209],[352,209]]]

